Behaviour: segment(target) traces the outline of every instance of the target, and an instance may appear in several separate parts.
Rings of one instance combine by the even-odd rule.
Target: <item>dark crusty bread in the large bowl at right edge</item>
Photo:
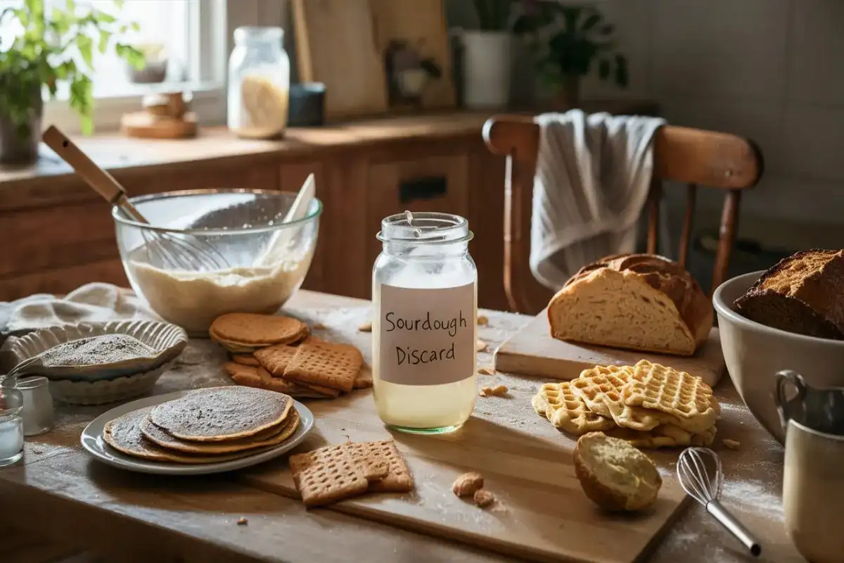
[[[768,327],[844,340],[844,250],[807,250],[781,260],[733,306]]]

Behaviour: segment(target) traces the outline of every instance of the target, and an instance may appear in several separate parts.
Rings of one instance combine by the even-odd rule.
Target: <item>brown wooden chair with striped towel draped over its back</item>
[[[504,289],[512,311],[535,313],[551,293],[530,273],[531,202],[539,127],[528,116],[494,116],[484,124],[484,141],[494,154],[507,157],[504,203]],[[654,138],[654,176],[648,194],[647,252],[657,252],[659,199],[663,181],[687,185],[687,202],[679,263],[689,257],[695,194],[698,186],[725,190],[721,227],[712,273],[712,290],[726,279],[738,223],[741,192],[762,176],[762,154],[755,143],[728,133],[687,127],[661,127]]]

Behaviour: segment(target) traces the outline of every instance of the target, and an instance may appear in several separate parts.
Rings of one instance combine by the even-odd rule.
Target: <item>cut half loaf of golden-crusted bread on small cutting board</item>
[[[623,254],[580,269],[548,305],[551,336],[690,356],[712,328],[711,301],[668,258]]]

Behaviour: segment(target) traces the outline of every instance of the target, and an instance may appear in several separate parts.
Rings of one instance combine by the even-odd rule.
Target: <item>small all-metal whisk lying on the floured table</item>
[[[713,461],[713,471],[706,467],[706,457]],[[677,477],[683,490],[695,501],[706,506],[706,512],[727,528],[752,555],[758,556],[762,553],[762,547],[749,530],[718,502],[724,474],[721,459],[716,452],[707,447],[687,447],[677,460]]]

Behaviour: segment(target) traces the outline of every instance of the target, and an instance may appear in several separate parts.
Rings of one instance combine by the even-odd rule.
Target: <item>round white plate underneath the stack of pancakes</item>
[[[115,407],[105,414],[101,414],[82,431],[82,447],[85,448],[96,459],[102,463],[106,463],[116,468],[128,469],[129,471],[137,471],[138,473],[162,474],[162,475],[203,475],[212,473],[223,473],[225,471],[234,471],[235,469],[247,468],[258,463],[266,462],[274,457],[279,457],[288,452],[305,439],[305,436],[313,430],[314,415],[311,409],[308,409],[299,401],[293,402],[293,408],[299,412],[300,423],[299,428],[286,441],[273,447],[266,452],[256,453],[253,456],[241,457],[240,459],[233,459],[227,462],[220,463],[199,463],[197,465],[187,465],[185,463],[165,463],[154,462],[139,457],[127,456],[125,453],[118,452],[113,447],[106,444],[103,440],[103,429],[109,421],[116,419],[122,414],[127,414],[133,410],[143,409],[143,407],[151,407],[154,404],[166,403],[175,398],[181,398],[187,395],[190,391],[177,391],[167,393],[165,395],[155,395],[154,397],[139,398],[137,401],[125,403],[119,407]]]

